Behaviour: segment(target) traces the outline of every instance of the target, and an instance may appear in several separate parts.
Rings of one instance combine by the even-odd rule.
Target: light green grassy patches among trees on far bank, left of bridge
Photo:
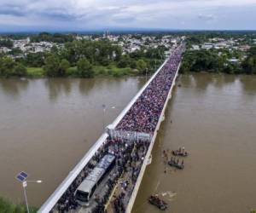
[[[110,66],[93,66],[92,67],[95,76],[113,76],[121,77],[125,75],[137,75],[137,72],[133,71],[130,67],[119,68],[114,65]],[[26,67],[28,77],[33,78],[43,78],[44,69],[43,67]],[[67,77],[78,77],[77,76],[77,67],[72,66],[67,69]]]

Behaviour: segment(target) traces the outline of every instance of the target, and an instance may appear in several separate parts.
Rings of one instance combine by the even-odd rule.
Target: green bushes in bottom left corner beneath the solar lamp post
[[[35,207],[29,208],[31,213],[36,213]],[[23,204],[12,204],[9,200],[0,197],[0,211],[1,213],[26,213],[26,206]]]

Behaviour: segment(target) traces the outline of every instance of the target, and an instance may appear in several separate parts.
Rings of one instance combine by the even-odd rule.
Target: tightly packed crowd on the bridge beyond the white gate
[[[181,61],[182,51],[183,48],[180,47],[172,53],[165,66],[161,68],[120,121],[117,130],[154,133]]]

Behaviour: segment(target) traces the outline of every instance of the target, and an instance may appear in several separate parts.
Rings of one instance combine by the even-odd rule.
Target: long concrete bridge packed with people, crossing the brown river
[[[106,131],[71,170],[38,210],[47,212],[125,212],[130,213],[160,124],[172,97],[184,44],[148,80],[137,95],[108,125]],[[113,169],[97,184],[89,206],[79,205],[74,193],[84,180],[93,177],[106,154],[115,158]],[[99,170],[100,170],[99,169]]]

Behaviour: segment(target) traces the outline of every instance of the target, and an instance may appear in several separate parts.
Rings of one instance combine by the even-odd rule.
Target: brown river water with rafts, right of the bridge
[[[132,213],[241,213],[256,208],[256,77],[183,75],[173,91]],[[172,120],[172,123],[171,123]],[[185,147],[184,170],[163,162],[163,150]],[[166,170],[166,174],[164,173]]]

